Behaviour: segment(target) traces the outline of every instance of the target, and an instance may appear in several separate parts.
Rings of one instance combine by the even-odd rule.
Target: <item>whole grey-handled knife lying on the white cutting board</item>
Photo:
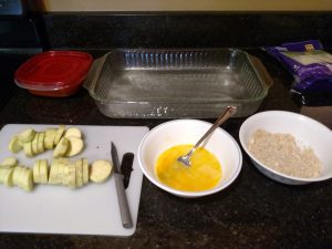
[[[121,214],[121,220],[122,226],[124,228],[132,228],[133,227],[133,220],[132,215],[128,206],[128,200],[126,196],[126,191],[123,185],[124,176],[121,174],[121,166],[118,162],[118,155],[116,147],[113,142],[111,142],[111,155],[112,155],[112,162],[114,165],[114,178],[115,178],[115,188],[116,188],[116,195],[117,195],[117,203]]]

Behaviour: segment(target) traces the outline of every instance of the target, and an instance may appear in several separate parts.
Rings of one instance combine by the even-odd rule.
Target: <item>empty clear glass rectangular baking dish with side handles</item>
[[[237,49],[115,49],[95,60],[84,87],[106,116],[209,118],[230,104],[252,114],[272,80]]]

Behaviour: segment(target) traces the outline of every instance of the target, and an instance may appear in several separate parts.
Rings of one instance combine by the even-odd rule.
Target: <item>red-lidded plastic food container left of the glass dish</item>
[[[48,51],[24,62],[14,81],[35,95],[70,96],[81,89],[92,61],[92,55],[85,52]]]

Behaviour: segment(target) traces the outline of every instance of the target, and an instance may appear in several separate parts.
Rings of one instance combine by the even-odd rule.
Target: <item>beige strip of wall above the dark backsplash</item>
[[[331,0],[40,0],[46,11],[326,11]]]

